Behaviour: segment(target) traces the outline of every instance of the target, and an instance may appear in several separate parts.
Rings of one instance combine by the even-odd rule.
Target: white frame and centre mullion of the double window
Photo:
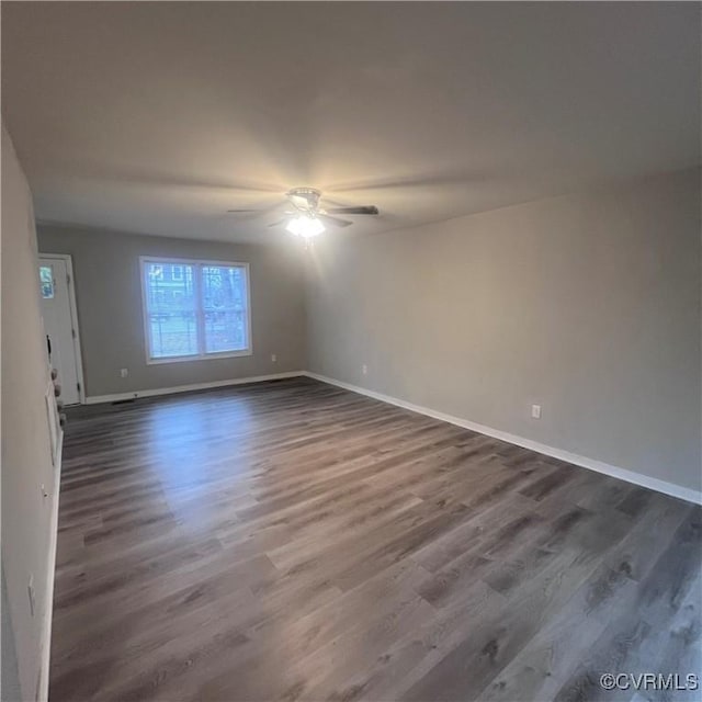
[[[192,265],[194,272],[194,284],[197,295],[197,343],[200,351],[197,353],[191,353],[189,355],[173,355],[168,358],[152,358],[151,356],[151,336],[149,328],[149,316],[147,305],[147,290],[146,290],[146,264],[147,263],[165,263],[167,265]],[[247,341],[248,348],[241,351],[220,351],[215,353],[206,353],[204,351],[205,343],[205,318],[202,305],[202,265],[222,265],[222,267],[237,267],[242,268],[246,271],[246,326],[247,326]],[[183,270],[183,276],[185,271]],[[253,339],[251,337],[251,275],[250,267],[248,263],[241,263],[237,261],[210,261],[205,259],[172,259],[159,256],[140,256],[139,257],[139,283],[141,286],[141,317],[144,321],[144,350],[146,353],[147,365],[160,365],[162,363],[183,363],[185,361],[212,361],[215,359],[233,359],[238,356],[247,356],[253,354]]]

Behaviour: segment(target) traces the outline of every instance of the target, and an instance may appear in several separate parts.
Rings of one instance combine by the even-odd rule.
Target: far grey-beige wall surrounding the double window
[[[304,272],[297,248],[45,226],[38,239],[44,253],[72,256],[89,397],[305,369]],[[248,262],[253,354],[148,365],[140,256]],[[121,369],[128,370],[126,378]]]

